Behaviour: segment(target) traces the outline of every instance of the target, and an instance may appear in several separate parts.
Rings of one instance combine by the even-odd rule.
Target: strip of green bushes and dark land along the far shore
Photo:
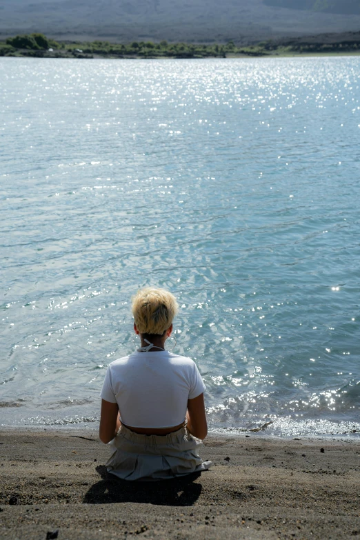
[[[281,0],[277,0],[281,1]],[[328,0],[317,0],[328,1]],[[360,39],[341,43],[306,43],[291,40],[287,43],[262,41],[257,45],[239,47],[234,41],[228,43],[168,43],[160,41],[132,41],[110,43],[109,41],[57,43],[43,34],[15,36],[0,42],[0,56],[48,57],[48,58],[226,58],[265,57],[299,54],[360,53]]]

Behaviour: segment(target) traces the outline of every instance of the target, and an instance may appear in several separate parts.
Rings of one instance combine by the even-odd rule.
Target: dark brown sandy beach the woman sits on
[[[360,539],[360,441],[212,435],[210,471],[157,483],[108,455],[90,430],[2,432],[1,540]]]

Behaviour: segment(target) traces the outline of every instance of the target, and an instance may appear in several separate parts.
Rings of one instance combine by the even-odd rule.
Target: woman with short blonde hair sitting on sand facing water
[[[146,288],[132,299],[141,347],[108,366],[99,436],[114,449],[108,471],[126,480],[160,480],[206,470],[197,454],[208,433],[205,385],[190,358],[165,350],[177,301]]]

